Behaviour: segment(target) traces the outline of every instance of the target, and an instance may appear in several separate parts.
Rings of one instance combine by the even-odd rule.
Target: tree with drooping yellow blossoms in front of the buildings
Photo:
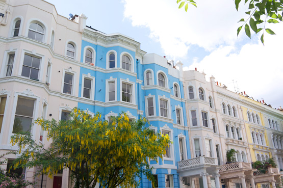
[[[68,168],[75,187],[135,187],[136,176],[153,180],[148,158],[163,156],[168,135],[147,128],[146,120],[129,122],[126,114],[102,121],[101,115],[74,108],[69,121],[36,121],[47,131],[46,148],[33,140],[31,133],[11,137],[19,146],[20,157],[14,167],[40,167],[49,177]]]

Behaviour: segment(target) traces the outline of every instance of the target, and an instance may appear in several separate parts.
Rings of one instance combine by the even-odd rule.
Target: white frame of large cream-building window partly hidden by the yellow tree
[[[34,112],[33,112],[33,121],[32,123],[34,123],[34,120],[36,120],[38,118],[38,109],[39,109],[39,100],[40,97],[36,96],[31,90],[27,89],[23,92],[15,92],[15,96],[14,96],[14,101],[13,101],[13,109],[12,109],[12,114],[11,114],[11,119],[10,119],[10,128],[9,128],[9,136],[8,136],[8,143],[10,143],[11,141],[11,136],[14,135],[13,133],[13,128],[14,128],[14,120],[15,120],[15,114],[16,114],[16,108],[17,108],[17,102],[18,102],[18,98],[26,98],[29,100],[34,100]],[[31,133],[33,135],[33,139],[35,139],[35,135],[36,135],[36,125],[32,126],[31,129]],[[17,148],[17,146],[14,146],[15,148]]]

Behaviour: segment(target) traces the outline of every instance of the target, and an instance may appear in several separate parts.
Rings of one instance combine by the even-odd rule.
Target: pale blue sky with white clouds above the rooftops
[[[283,23],[268,24],[276,35],[244,30],[237,37],[238,21],[247,18],[233,0],[196,0],[197,8],[178,9],[175,0],[47,0],[58,14],[85,14],[87,25],[106,34],[121,33],[141,43],[147,53],[181,61],[184,70],[214,76],[231,91],[243,92],[273,108],[283,108]],[[75,6],[74,6],[75,5]]]

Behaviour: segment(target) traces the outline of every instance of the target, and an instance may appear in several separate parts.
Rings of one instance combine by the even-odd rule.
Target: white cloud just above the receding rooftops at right
[[[276,25],[274,31],[283,33],[283,25]],[[239,52],[233,46],[221,46],[200,62],[194,62],[185,69],[204,70],[208,77],[213,75],[216,80],[234,91],[234,81],[240,91],[246,91],[256,99],[278,108],[283,105],[283,36],[265,34],[265,46],[260,39],[256,44],[245,44]]]

